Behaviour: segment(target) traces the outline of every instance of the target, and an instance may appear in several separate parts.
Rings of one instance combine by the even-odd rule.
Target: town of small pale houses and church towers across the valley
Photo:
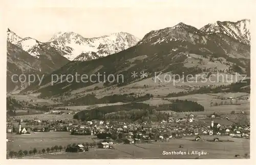
[[[195,135],[229,135],[245,138],[250,136],[249,125],[222,125],[214,121],[216,119],[215,115],[211,115],[210,117],[210,123],[197,122],[198,120],[194,120],[193,114],[182,118],[170,117],[167,121],[161,121],[160,123],[125,123],[92,120],[81,123],[63,124],[61,120],[56,120],[54,123],[41,123],[40,126],[24,126],[24,122],[19,122],[18,127],[8,126],[7,132],[26,134],[31,131],[69,131],[74,135],[109,133],[113,135],[113,139],[126,138],[127,140],[124,143],[134,143],[140,140],[169,140],[171,138]]]

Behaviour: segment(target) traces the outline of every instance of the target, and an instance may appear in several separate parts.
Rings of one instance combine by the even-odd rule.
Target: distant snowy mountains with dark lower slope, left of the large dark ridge
[[[10,81],[10,75],[14,71],[19,74],[49,74],[67,64],[69,60],[89,61],[105,57],[134,46],[138,41],[138,38],[123,32],[91,39],[69,32],[57,33],[49,42],[40,42],[30,37],[19,37],[8,29],[7,90],[26,87],[26,83],[14,85]]]

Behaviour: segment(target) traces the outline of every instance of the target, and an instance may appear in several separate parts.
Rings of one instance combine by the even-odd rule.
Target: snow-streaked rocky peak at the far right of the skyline
[[[203,26],[200,30],[205,33],[222,33],[250,45],[249,19],[242,19],[237,22],[216,21]]]

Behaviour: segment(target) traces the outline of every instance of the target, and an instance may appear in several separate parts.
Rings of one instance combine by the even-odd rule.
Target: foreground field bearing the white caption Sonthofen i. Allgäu
[[[202,139],[212,140],[215,136],[201,136]],[[250,142],[248,139],[236,139],[229,136],[220,136],[220,140],[232,140],[234,142],[193,142],[189,139],[172,139],[169,142],[157,142],[136,145],[115,145],[114,149],[90,149],[83,153],[60,153],[32,156],[29,158],[48,158],[48,159],[122,159],[122,158],[160,158],[160,159],[186,159],[186,158],[215,158],[232,159],[235,154],[240,154],[240,158],[245,158],[245,153],[249,154]],[[193,137],[190,137],[193,139]],[[179,148],[179,145],[184,148]],[[191,153],[192,151],[203,151],[206,155],[163,155],[163,151],[183,151]]]

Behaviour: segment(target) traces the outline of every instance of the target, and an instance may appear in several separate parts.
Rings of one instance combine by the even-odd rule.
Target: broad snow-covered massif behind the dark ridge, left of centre
[[[132,47],[139,39],[129,33],[113,33],[94,38],[84,38],[74,32],[58,32],[50,40],[51,46],[62,51],[62,56],[69,60],[95,59]],[[95,53],[92,53],[95,52]],[[91,56],[92,57],[81,57]],[[79,58],[76,58],[78,57]]]

